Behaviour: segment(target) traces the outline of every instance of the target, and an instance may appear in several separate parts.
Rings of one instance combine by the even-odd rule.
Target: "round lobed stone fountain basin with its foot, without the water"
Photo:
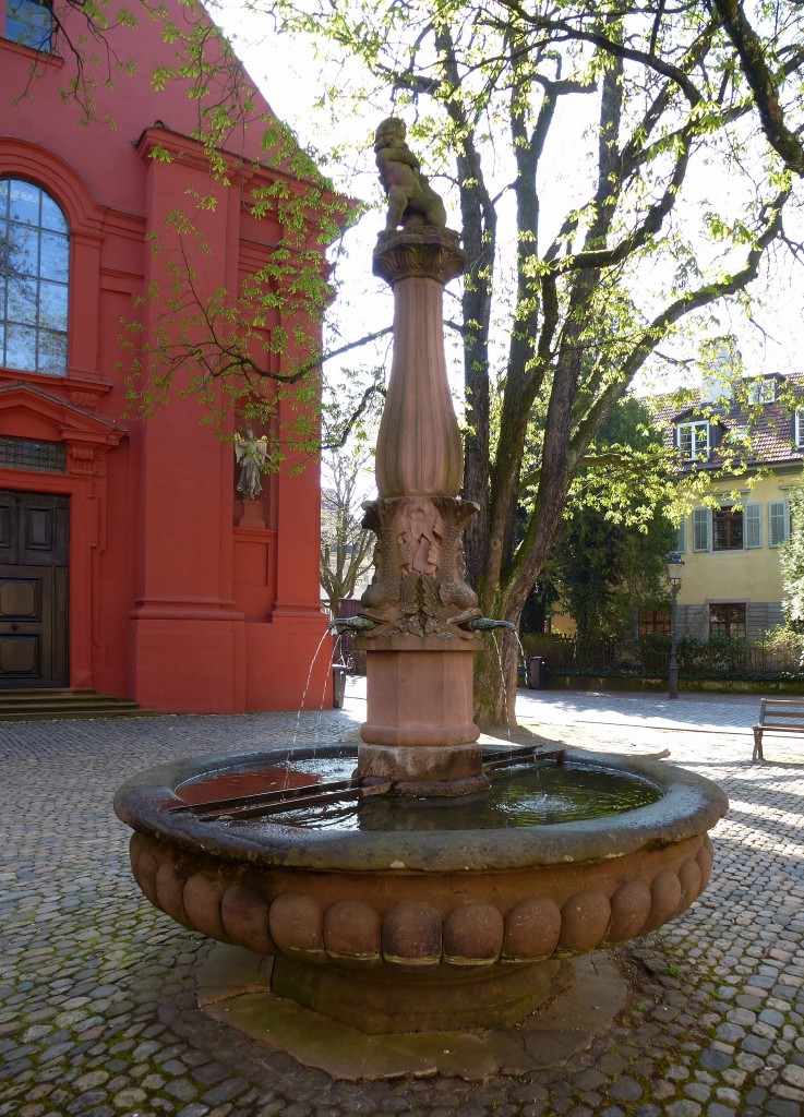
[[[185,760],[125,784],[145,896],[185,927],[274,955],[280,996],[368,1033],[504,1027],[564,980],[562,961],[654,930],[709,879],[711,782],[655,761],[567,750],[661,798],[615,815],[491,829],[344,831],[209,820],[183,789],[343,747]],[[449,806],[443,810],[449,811]]]

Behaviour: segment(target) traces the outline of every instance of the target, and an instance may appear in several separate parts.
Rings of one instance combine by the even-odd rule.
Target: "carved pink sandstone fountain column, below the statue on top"
[[[380,499],[365,505],[377,536],[362,615],[367,717],[357,773],[400,794],[459,795],[487,786],[472,719],[472,652],[460,626],[480,615],[466,582],[458,498],[460,430],[443,346],[443,287],[460,275],[458,237],[430,226],[380,237],[374,274],[394,293],[394,347],[376,447]]]

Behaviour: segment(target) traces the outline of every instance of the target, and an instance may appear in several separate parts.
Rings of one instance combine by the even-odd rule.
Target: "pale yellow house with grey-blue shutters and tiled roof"
[[[683,470],[711,472],[706,502],[679,525],[679,632],[758,640],[782,623],[778,546],[804,464],[804,373],[724,384],[683,411],[662,410]],[[747,470],[728,476],[730,455]]]

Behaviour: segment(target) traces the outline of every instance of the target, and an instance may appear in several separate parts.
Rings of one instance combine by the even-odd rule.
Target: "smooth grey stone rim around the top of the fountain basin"
[[[567,748],[568,763],[635,775],[662,792],[655,803],[603,818],[546,825],[484,830],[337,831],[270,822],[204,822],[171,813],[182,804],[174,787],[205,773],[266,761],[352,755],[353,746],[328,745],[217,753],[149,768],[117,792],[114,809],[132,829],[192,852],[255,867],[341,872],[516,871],[612,860],[661,848],[711,829],[728,800],[705,776],[661,761]],[[449,810],[449,808],[444,808]],[[603,852],[601,852],[603,850]]]

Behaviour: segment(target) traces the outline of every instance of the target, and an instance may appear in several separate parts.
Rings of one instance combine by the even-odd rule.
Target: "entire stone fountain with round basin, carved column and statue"
[[[275,994],[374,1034],[504,1025],[555,994],[567,958],[683,911],[728,804],[655,761],[478,743],[472,652],[492,622],[465,577],[475,506],[458,495],[442,326],[463,254],[401,122],[375,146],[389,220],[374,271],[393,288],[394,352],[366,506],[375,574],[352,622],[367,653],[356,756],[183,761],[130,781],[115,809],[151,903],[272,955]],[[534,822],[523,804],[545,798],[547,773],[570,792],[593,777],[594,799],[624,783],[641,805]]]

